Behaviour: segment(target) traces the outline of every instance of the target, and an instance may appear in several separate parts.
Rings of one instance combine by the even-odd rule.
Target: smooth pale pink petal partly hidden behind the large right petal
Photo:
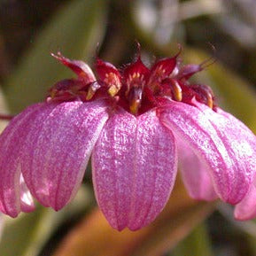
[[[206,165],[182,141],[179,141],[178,149],[182,180],[190,197],[206,201],[218,198],[213,188],[212,179],[206,171]]]

